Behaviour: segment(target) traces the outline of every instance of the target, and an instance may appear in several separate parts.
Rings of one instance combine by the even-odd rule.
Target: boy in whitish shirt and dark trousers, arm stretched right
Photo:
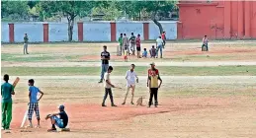
[[[115,86],[111,83],[111,79],[110,79],[110,75],[111,75],[112,71],[113,71],[113,67],[109,66],[108,71],[104,75],[105,95],[104,95],[104,98],[103,98],[102,106],[106,106],[105,101],[107,100],[108,95],[110,95],[111,105],[112,106],[117,106],[116,104],[114,104],[113,94],[112,94],[112,90],[111,90],[111,88],[115,88]]]

